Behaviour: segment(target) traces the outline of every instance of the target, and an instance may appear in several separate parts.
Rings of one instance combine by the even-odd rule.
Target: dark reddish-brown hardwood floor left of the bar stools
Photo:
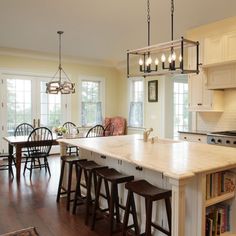
[[[98,221],[95,231],[84,224],[83,206],[73,215],[66,211],[65,201],[56,203],[60,158],[51,156],[49,161],[51,177],[35,169],[31,181],[28,172],[25,177],[22,173],[19,184],[8,171],[0,171],[0,234],[35,226],[41,236],[107,235],[105,220]]]

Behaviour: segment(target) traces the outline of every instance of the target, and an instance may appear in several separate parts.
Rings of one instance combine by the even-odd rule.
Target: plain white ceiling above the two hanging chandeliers
[[[150,0],[151,43],[170,40],[170,0]],[[234,16],[235,0],[175,0],[175,37]],[[1,0],[0,47],[116,63],[147,45],[146,0]]]

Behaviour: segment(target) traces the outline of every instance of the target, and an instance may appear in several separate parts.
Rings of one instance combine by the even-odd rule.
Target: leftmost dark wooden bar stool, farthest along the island
[[[70,202],[74,201],[74,200],[71,200],[71,193],[75,192],[75,190],[71,190],[73,167],[75,168],[76,178],[78,178],[79,173],[78,173],[78,169],[77,169],[77,164],[79,162],[81,162],[81,163],[87,162],[87,160],[86,159],[80,160],[79,157],[77,157],[77,156],[62,156],[61,161],[62,161],[62,163],[61,163],[60,180],[59,180],[58,191],[57,191],[57,202],[60,201],[61,195],[66,194],[67,195],[66,209],[69,211],[70,210]],[[67,182],[66,188],[62,185],[65,164],[69,165],[68,182]]]

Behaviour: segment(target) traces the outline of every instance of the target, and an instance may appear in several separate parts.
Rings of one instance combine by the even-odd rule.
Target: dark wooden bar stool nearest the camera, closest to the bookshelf
[[[129,182],[125,185],[125,188],[128,189],[128,196],[125,208],[124,222],[123,222],[123,236],[126,235],[126,232],[129,228],[133,227],[128,226],[129,214],[131,213],[130,208],[132,208],[132,212],[135,211],[135,201],[134,201],[134,193],[140,195],[145,198],[145,207],[146,207],[146,226],[145,233],[141,235],[150,236],[151,235],[151,226],[158,229],[162,233],[166,235],[171,235],[171,191],[160,189],[146,180],[138,180]],[[154,201],[165,200],[166,213],[167,213],[167,221],[169,226],[169,231],[152,222],[152,204]],[[133,214],[134,219],[134,227],[135,227],[135,235],[140,235],[138,229],[138,221],[137,215]]]

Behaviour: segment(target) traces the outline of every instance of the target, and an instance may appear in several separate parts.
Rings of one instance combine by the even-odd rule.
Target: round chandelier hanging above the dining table
[[[49,94],[71,94],[75,93],[75,84],[71,82],[61,66],[61,35],[63,31],[57,31],[59,35],[59,66],[52,80],[46,84],[46,93]]]

